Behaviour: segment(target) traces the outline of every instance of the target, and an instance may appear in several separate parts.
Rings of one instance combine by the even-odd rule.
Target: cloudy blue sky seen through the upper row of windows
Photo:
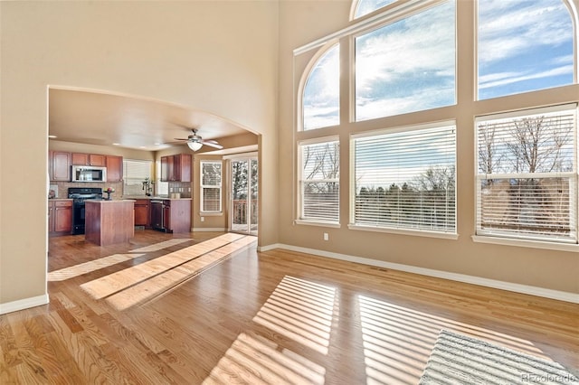
[[[361,3],[372,8],[391,1]],[[356,38],[356,120],[455,103],[454,5]],[[573,44],[562,0],[479,0],[479,99],[573,83]],[[339,123],[337,51],[324,55],[310,75],[307,128]]]

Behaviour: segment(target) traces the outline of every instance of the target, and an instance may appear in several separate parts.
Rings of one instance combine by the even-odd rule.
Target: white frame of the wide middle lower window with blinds
[[[408,229],[408,228],[394,228],[387,226],[370,226],[366,224],[356,223],[356,139],[364,137],[373,136],[384,136],[384,135],[394,135],[403,132],[413,132],[427,130],[436,127],[454,127],[454,231],[437,231],[437,230],[420,230],[420,229]],[[454,119],[444,120],[441,122],[427,123],[410,125],[403,127],[393,127],[393,128],[383,128],[373,131],[365,131],[359,134],[350,134],[349,140],[350,146],[350,186],[349,186],[349,230],[364,230],[364,231],[374,231],[374,232],[384,232],[391,234],[402,234],[402,235],[413,235],[429,238],[439,238],[439,239],[458,239],[459,238],[459,225],[458,225],[458,190],[459,185],[457,183],[457,168],[458,168],[458,155],[457,155],[457,123]]]

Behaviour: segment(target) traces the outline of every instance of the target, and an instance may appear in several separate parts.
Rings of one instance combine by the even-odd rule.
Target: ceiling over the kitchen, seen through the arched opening
[[[49,135],[55,140],[157,151],[176,146],[175,138],[192,135],[191,128],[217,141],[248,132],[221,117],[158,100],[49,90]]]

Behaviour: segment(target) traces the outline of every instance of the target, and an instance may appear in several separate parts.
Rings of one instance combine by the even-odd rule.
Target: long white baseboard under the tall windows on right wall
[[[405,271],[407,273],[420,274],[422,276],[437,277],[443,279],[450,279],[451,281],[464,282],[472,285],[487,286],[498,288],[501,290],[508,290],[515,293],[527,294],[530,296],[543,296],[546,298],[556,299],[559,301],[571,302],[579,304],[579,294],[570,293],[559,290],[547,289],[545,287],[528,286],[515,284],[512,282],[498,281],[496,279],[489,279],[483,277],[468,276],[465,274],[451,273],[448,271],[434,270],[432,268],[418,268],[410,265],[403,265],[399,263],[385,262],[382,260],[362,258],[350,256],[346,254],[339,254],[330,251],[308,249],[299,246],[285,245],[283,243],[274,243],[267,246],[261,246],[258,251],[269,251],[271,249],[288,249],[291,251],[299,251],[302,253],[313,254],[320,257],[334,258],[346,260],[348,262],[356,262],[362,265],[375,266],[377,268],[391,268],[393,270]]]

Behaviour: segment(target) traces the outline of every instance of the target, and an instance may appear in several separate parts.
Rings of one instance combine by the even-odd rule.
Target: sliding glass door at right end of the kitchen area
[[[258,163],[257,155],[236,156],[230,160],[230,230],[257,235]]]

